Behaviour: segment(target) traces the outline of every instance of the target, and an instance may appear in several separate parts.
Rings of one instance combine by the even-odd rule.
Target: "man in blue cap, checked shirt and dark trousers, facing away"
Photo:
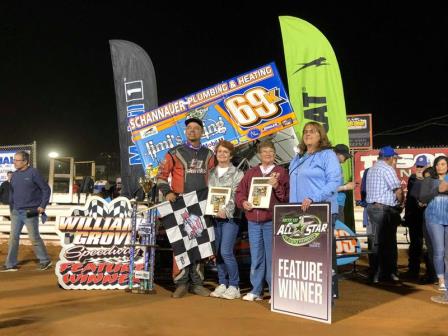
[[[372,258],[369,260],[373,283],[381,279],[399,281],[397,226],[401,222],[403,190],[394,169],[398,158],[392,147],[382,147],[378,161],[367,174],[367,213],[374,234]]]

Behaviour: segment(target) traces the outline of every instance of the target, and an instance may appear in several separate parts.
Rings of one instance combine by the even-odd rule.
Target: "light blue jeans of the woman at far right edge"
[[[437,276],[448,280],[448,225],[427,224],[433,248],[434,268]]]

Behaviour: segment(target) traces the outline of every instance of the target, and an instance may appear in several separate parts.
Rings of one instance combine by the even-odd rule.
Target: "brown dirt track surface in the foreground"
[[[0,245],[0,263],[6,256]],[[53,261],[59,248],[48,247]],[[333,324],[273,313],[267,300],[227,301],[189,294],[170,298],[121,290],[60,289],[54,269],[35,270],[21,246],[18,272],[0,273],[0,335],[448,335],[448,305],[430,301],[433,285],[369,285],[356,277],[340,282]],[[400,260],[404,263],[405,257]],[[214,283],[207,283],[209,288]],[[168,286],[169,287],[169,286]],[[242,291],[247,292],[245,285]]]

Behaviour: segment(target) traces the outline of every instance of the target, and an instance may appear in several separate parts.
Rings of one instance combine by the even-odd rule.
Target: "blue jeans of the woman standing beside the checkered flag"
[[[231,219],[215,220],[216,265],[220,285],[239,287],[238,264],[233,252],[239,227]]]

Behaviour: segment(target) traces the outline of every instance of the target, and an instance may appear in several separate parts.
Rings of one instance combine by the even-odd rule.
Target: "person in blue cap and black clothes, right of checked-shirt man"
[[[405,225],[409,228],[409,264],[408,271],[403,276],[418,280],[420,261],[423,252],[423,230],[425,205],[419,202],[420,188],[423,181],[423,171],[429,167],[426,155],[419,155],[415,160],[415,174],[409,176],[405,203]],[[435,278],[434,267],[426,258],[426,277]],[[431,274],[431,271],[433,274]],[[428,279],[428,280],[429,280]]]

